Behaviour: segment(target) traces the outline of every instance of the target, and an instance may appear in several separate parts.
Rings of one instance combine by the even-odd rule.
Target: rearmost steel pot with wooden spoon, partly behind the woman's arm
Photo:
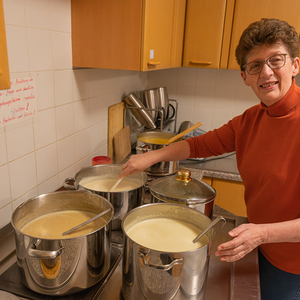
[[[155,139],[169,140],[173,136],[175,136],[175,134],[168,133],[168,132],[156,132],[156,131],[143,132],[137,136],[136,153],[142,154],[145,152],[167,147],[169,144],[159,144],[150,141],[151,140],[155,141]],[[144,140],[149,140],[149,142],[145,142]],[[178,166],[179,166],[178,161],[162,161],[147,168],[146,173],[148,175],[153,175],[153,176],[172,175],[177,172]]]

